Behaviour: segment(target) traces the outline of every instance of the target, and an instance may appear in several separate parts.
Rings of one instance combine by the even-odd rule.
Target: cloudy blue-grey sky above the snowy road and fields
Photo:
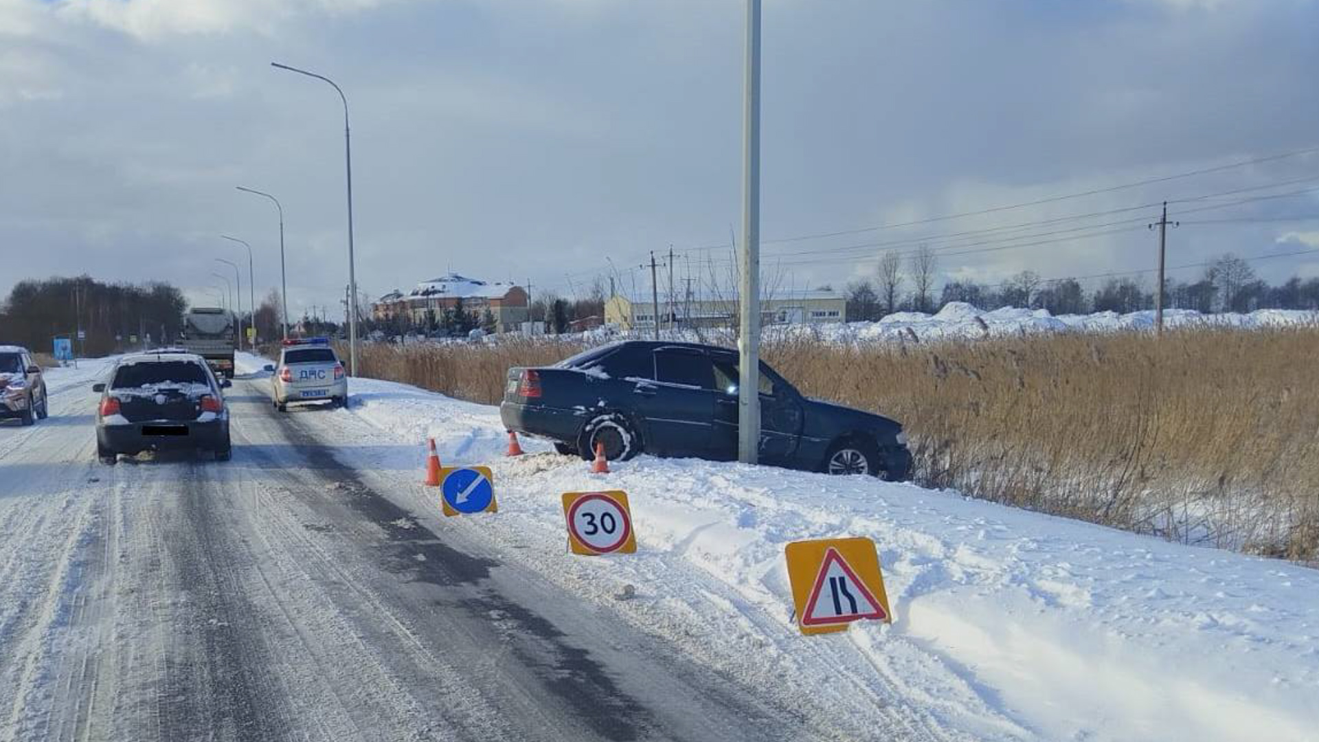
[[[1155,210],[1126,209],[1163,199],[1187,222],[1170,232],[1171,265],[1319,247],[1319,220],[1293,220],[1319,214],[1319,152],[1109,190],[1319,147],[1316,5],[765,0],[762,235],[847,232],[766,242],[766,272],[839,287],[921,242],[944,277],[1141,269]],[[743,12],[0,0],[0,293],[86,272],[169,280],[212,304],[210,275],[227,269],[214,257],[247,280],[230,234],[256,248],[260,296],[278,285],[277,222],[245,185],[284,202],[290,310],[335,305],[340,104],[272,61],[348,95],[365,293],[447,271],[530,279],[534,293],[611,273],[649,290],[636,267],[670,246],[679,277],[719,273],[740,230]],[[1097,215],[1064,219],[1080,214]],[[892,226],[907,222],[923,223]],[[1316,255],[1254,265],[1319,275]]]

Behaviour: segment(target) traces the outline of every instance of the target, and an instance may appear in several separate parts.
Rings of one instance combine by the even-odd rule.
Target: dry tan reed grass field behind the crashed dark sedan
[[[365,346],[365,376],[492,404],[579,341]],[[1319,557],[1319,329],[765,346],[815,397],[901,420],[922,485],[1167,539]]]

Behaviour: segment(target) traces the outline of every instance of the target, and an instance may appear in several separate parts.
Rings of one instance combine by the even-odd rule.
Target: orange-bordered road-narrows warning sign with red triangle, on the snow
[[[802,634],[844,631],[853,621],[892,621],[874,541],[793,541],[785,556]]]

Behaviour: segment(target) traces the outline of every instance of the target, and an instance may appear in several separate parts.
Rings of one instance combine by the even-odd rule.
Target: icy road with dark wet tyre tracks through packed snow
[[[348,416],[239,380],[231,463],[94,463],[91,374],[0,429],[0,739],[838,737],[419,522]]]

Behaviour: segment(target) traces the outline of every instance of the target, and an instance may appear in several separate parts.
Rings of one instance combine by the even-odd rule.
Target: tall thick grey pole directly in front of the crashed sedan
[[[744,71],[737,461],[756,463],[760,458],[760,0],[747,0]]]

